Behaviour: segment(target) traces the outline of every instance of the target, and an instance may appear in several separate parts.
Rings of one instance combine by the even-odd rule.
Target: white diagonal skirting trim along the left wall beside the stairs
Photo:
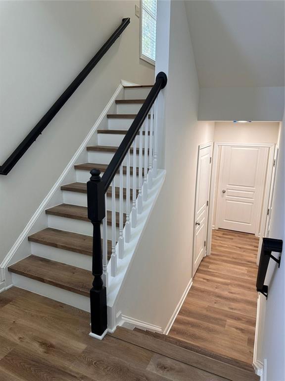
[[[39,218],[41,213],[45,210],[48,201],[51,199],[51,197],[53,196],[55,191],[57,191],[57,189],[60,187],[60,185],[62,184],[62,182],[63,182],[63,180],[65,178],[65,176],[68,174],[69,170],[73,168],[73,166],[74,166],[76,160],[78,159],[79,155],[84,151],[84,149],[88,145],[89,140],[91,139],[91,137],[95,133],[96,129],[99,127],[101,121],[106,116],[109,108],[115,102],[117,96],[119,95],[119,93],[120,93],[120,91],[122,89],[123,89],[123,85],[120,84],[117,87],[117,89],[114,92],[114,94],[112,95],[112,97],[109,100],[109,102],[107,103],[106,107],[104,108],[104,110],[100,114],[99,118],[96,120],[94,126],[91,128],[91,130],[89,131],[88,135],[83,140],[82,144],[80,145],[80,147],[78,148],[78,150],[76,151],[76,153],[74,154],[74,156],[72,157],[70,162],[67,164],[67,166],[63,170],[62,174],[59,176],[59,178],[56,181],[56,183],[54,184],[54,186],[47,193],[47,196],[44,198],[44,200],[42,201],[42,203],[40,204],[40,206],[38,207],[36,212],[33,214],[32,218],[27,223],[27,225],[25,226],[24,230],[22,231],[22,233],[17,238],[17,240],[14,243],[14,245],[12,246],[12,248],[9,250],[8,254],[5,256],[3,261],[0,263],[0,268],[6,268],[9,265],[9,263],[11,263],[11,259],[13,258],[14,254],[17,252],[17,250],[19,249],[19,247],[23,243],[23,241],[27,239],[29,231],[31,230],[31,228],[33,227],[33,225],[35,224],[35,222],[37,221],[37,219]]]

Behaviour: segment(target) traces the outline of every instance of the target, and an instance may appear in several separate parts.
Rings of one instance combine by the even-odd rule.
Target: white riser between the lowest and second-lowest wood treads
[[[31,253],[42,258],[54,260],[57,262],[80,267],[85,270],[92,269],[92,256],[80,253],[74,253],[67,250],[53,248],[51,246],[31,242]]]

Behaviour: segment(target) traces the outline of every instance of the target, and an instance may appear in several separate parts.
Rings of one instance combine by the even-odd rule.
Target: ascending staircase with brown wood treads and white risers
[[[94,278],[91,271],[93,227],[88,218],[86,183],[90,179],[92,169],[97,168],[102,173],[105,172],[150,89],[150,85],[124,86],[123,94],[120,95],[123,99],[116,99],[114,113],[106,115],[93,137],[97,144],[86,147],[88,162],[74,165],[72,176],[76,181],[60,186],[61,202],[45,210],[46,227],[27,238],[30,252],[26,253],[24,259],[9,265],[8,270],[12,274],[12,283],[15,286],[90,311],[90,289]],[[139,155],[139,149],[136,151]],[[132,148],[130,155],[131,157],[134,155]],[[144,160],[144,149],[142,149],[142,160]],[[120,201],[120,187],[115,187],[113,200],[111,186],[106,192],[108,260],[112,254],[116,255],[115,246],[127,219],[127,166],[123,165],[122,170],[123,201]],[[139,166],[134,171],[131,167],[130,175],[134,175],[139,184]],[[120,182],[119,173],[115,176],[115,182],[116,184]],[[136,190],[136,195],[138,194],[139,189]],[[120,202],[123,203],[123,213]],[[123,226],[120,226],[120,211],[123,216]],[[115,242],[112,242],[114,234]],[[105,272],[106,265],[107,263]]]

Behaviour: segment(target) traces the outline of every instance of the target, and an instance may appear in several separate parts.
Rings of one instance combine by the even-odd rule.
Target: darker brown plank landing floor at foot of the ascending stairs
[[[149,350],[143,340],[93,339],[89,322],[88,313],[43,296],[16,287],[2,292],[0,381],[229,381],[160,355],[160,342]]]

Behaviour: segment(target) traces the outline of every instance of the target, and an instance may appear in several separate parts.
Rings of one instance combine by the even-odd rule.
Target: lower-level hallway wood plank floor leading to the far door
[[[252,363],[258,241],[253,234],[213,230],[211,255],[202,260],[170,336]]]

